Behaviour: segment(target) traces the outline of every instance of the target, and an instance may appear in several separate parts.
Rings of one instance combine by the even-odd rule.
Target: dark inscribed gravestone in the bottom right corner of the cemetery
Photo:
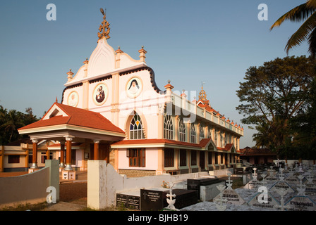
[[[295,195],[288,200],[286,206],[293,211],[316,211],[316,203],[308,196]]]

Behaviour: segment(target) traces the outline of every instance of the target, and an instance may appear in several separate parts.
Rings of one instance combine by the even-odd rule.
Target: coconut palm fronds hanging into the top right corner
[[[309,49],[308,52],[311,56],[316,56],[316,0],[308,0],[305,4],[296,6],[277,20],[270,28],[279,27],[285,20],[292,22],[301,22],[305,20],[303,25],[288,39],[285,50],[288,51],[294,46],[300,45],[303,41],[308,40]]]

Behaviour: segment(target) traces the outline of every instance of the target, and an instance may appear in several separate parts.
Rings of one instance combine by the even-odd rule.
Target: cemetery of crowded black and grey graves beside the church
[[[241,174],[195,177],[162,182],[159,187],[116,193],[116,206],[140,211],[316,211],[316,166],[297,163]],[[239,177],[243,186],[233,189]]]

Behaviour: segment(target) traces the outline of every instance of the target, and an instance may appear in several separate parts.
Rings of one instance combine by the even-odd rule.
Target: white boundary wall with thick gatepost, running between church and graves
[[[193,179],[199,176],[209,176],[208,172],[157,176],[142,176],[127,178],[120,175],[114,167],[104,160],[89,160],[87,162],[87,207],[102,210],[115,205],[116,193],[137,188],[161,188],[166,181],[171,186],[177,182]]]

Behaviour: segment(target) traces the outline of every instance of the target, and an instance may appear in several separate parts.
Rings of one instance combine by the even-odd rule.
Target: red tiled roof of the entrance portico
[[[43,118],[45,117],[44,116],[42,120],[29,124],[28,126],[22,127],[18,130],[69,124],[79,127],[88,127],[125,134],[123,130],[121,130],[119,127],[116,127],[100,113],[95,113],[90,110],[83,110],[81,108],[75,108],[69,105],[63,105],[61,103],[54,103],[54,105],[58,106],[68,116],[54,116],[47,120],[43,120]],[[52,105],[51,108],[54,105]]]

